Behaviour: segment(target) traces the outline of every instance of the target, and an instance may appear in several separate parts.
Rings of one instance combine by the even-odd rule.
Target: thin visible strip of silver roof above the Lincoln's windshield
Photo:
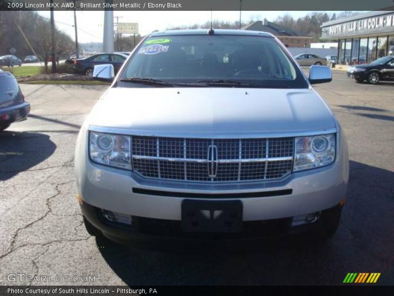
[[[234,35],[234,36],[263,36],[263,37],[274,37],[272,34],[261,31],[249,31],[249,30],[224,30],[224,29],[213,29],[214,35]],[[176,35],[208,35],[209,29],[190,29],[190,30],[165,30],[152,32],[148,37],[164,37],[164,36],[176,36]]]

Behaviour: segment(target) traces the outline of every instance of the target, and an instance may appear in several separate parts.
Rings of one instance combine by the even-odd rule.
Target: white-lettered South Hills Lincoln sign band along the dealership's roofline
[[[368,32],[383,31],[393,28],[394,14],[370,17],[342,24],[331,25],[323,28],[323,37],[335,37],[341,35],[355,35]]]

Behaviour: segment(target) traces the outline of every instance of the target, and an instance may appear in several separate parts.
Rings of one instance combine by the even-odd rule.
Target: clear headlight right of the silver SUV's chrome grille
[[[335,159],[335,134],[296,138],[293,171],[331,164]]]

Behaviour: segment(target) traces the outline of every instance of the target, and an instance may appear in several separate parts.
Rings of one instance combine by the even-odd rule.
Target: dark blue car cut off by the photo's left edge
[[[12,122],[26,119],[30,112],[30,104],[16,81],[9,72],[0,71],[0,131],[9,127]]]

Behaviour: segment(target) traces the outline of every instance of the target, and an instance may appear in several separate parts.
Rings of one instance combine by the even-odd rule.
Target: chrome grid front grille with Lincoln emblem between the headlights
[[[132,167],[147,178],[188,182],[280,179],[293,165],[293,138],[191,139],[132,136]]]

